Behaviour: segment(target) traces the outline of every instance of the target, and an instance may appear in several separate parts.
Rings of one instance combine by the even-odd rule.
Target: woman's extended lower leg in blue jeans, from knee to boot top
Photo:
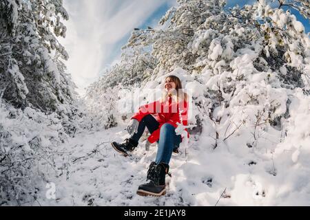
[[[169,164],[172,150],[178,141],[178,135],[176,135],[176,131],[172,124],[165,123],[161,126],[161,133],[159,136],[158,142],[158,150],[156,155],[156,164],[161,162],[165,164]]]

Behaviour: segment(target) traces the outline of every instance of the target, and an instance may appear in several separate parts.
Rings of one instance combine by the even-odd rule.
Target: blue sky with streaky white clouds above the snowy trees
[[[227,0],[227,7],[255,1]],[[85,87],[119,61],[121,47],[132,30],[158,27],[159,19],[176,5],[176,0],[63,0],[63,4],[70,19],[64,22],[67,34],[60,41],[70,56],[68,73],[78,87],[76,91],[83,95]],[[292,12],[310,32],[309,21]]]

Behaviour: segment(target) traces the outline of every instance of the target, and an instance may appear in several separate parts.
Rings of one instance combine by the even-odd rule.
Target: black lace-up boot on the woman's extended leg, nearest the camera
[[[168,171],[168,164],[161,162],[156,165],[155,162],[152,162],[151,165],[149,165],[149,170],[147,171],[147,180],[150,180],[149,183],[140,185],[136,193],[142,196],[153,195],[156,197],[165,195],[165,175]]]

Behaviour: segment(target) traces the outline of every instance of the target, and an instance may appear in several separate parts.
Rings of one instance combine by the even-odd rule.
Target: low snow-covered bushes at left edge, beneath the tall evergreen
[[[45,185],[68,174],[60,146],[68,140],[59,115],[23,111],[0,100],[0,206],[22,206],[45,195]]]

